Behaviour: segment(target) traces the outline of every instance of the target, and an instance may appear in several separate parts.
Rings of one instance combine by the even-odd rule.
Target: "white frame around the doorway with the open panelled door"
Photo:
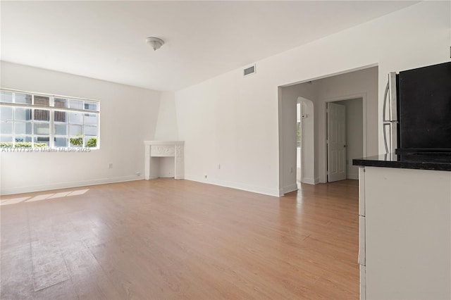
[[[363,155],[364,157],[367,156],[366,154],[366,93],[359,93],[359,94],[350,94],[350,95],[346,95],[346,96],[337,96],[337,97],[333,97],[333,98],[328,98],[328,99],[323,99],[324,101],[324,108],[323,108],[323,113],[324,113],[324,120],[326,120],[326,126],[324,126],[324,139],[322,141],[323,146],[324,146],[324,156],[323,156],[323,161],[324,161],[324,174],[325,174],[325,178],[324,178],[324,182],[328,182],[328,157],[327,157],[327,104],[329,102],[336,102],[336,101],[343,101],[343,100],[350,100],[350,99],[358,99],[361,98],[362,99],[362,127],[363,127],[363,137],[362,137],[362,141],[363,141]]]

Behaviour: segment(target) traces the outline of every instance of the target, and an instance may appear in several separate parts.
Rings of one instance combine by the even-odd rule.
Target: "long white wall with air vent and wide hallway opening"
[[[424,1],[176,92],[185,177],[278,195],[278,87],[378,65],[381,115],[388,72],[450,60],[450,23],[449,1]]]

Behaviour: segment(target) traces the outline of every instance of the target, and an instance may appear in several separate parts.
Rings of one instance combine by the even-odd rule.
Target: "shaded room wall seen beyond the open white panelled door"
[[[352,165],[352,160],[364,156],[362,100],[349,99],[334,102],[346,108],[346,178],[348,179],[359,179],[359,166]]]

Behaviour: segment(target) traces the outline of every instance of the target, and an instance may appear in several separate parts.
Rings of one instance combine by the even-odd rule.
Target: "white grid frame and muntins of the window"
[[[68,139],[70,137],[73,137],[70,135],[70,124],[75,124],[75,123],[70,123],[70,113],[74,113],[74,112],[79,112],[82,113],[83,115],[83,123],[81,124],[82,126],[82,139],[83,139],[83,146],[85,146],[85,139],[89,138],[89,136],[85,136],[85,126],[86,125],[90,125],[90,124],[86,124],[85,123],[85,114],[95,114],[97,115],[97,135],[95,137],[97,137],[97,145],[95,147],[89,147],[89,149],[100,149],[100,101],[99,100],[94,100],[94,99],[86,99],[86,98],[78,98],[78,97],[73,97],[73,96],[61,96],[61,95],[54,95],[54,94],[44,94],[44,93],[39,93],[39,92],[27,92],[27,91],[21,91],[18,89],[8,89],[8,88],[3,88],[0,87],[0,91],[1,92],[11,92],[13,93],[13,102],[2,102],[0,99],[0,106],[8,106],[13,108],[13,119],[11,120],[11,123],[13,124],[12,126],[12,132],[11,135],[13,137],[13,148],[16,146],[16,115],[15,115],[15,109],[16,107],[21,107],[21,108],[27,108],[31,110],[31,115],[32,115],[32,119],[31,119],[31,135],[25,135],[25,136],[31,136],[31,143],[32,143],[32,148],[35,148],[35,138],[39,137],[39,135],[35,134],[35,124],[39,124],[39,123],[49,123],[49,146],[45,147],[45,148],[49,148],[49,149],[60,149],[60,148],[75,148],[74,146],[70,145],[70,142],[68,141],[68,146],[66,147],[60,147],[60,146],[55,146],[55,138],[56,137],[67,137]],[[15,97],[16,97],[16,93],[18,94],[29,94],[32,96],[32,103],[31,104],[20,104],[20,103],[14,103]],[[42,105],[35,105],[35,96],[44,96],[44,97],[48,97],[49,98],[49,106],[42,106]],[[55,107],[55,98],[57,99],[66,99],[67,101],[70,100],[76,100],[76,101],[82,101],[82,107],[85,107],[85,102],[94,102],[97,105],[97,111],[92,111],[92,110],[87,110],[87,109],[78,109],[78,108],[66,108],[66,107]],[[41,120],[35,120],[35,109],[40,109],[40,110],[45,110],[45,111],[49,111],[49,121],[41,121]],[[64,122],[67,126],[68,126],[68,131],[67,131],[67,135],[55,135],[55,120],[54,120],[54,112],[55,111],[62,111],[62,112],[66,112],[67,114],[67,118],[68,120],[66,122]],[[4,120],[2,120],[3,122]],[[21,120],[20,120],[21,121]],[[24,121],[24,123],[26,123]],[[56,123],[58,124],[58,123]],[[80,125],[80,124],[78,124]],[[20,135],[20,137],[22,137],[24,135]],[[47,135],[44,135],[44,137],[47,137]],[[37,141],[37,143],[39,143],[39,141]],[[86,146],[85,146],[86,147]]]

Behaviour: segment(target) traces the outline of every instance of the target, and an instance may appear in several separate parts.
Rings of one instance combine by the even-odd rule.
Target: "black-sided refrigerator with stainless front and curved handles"
[[[451,154],[451,62],[388,77],[383,104],[385,150]]]

